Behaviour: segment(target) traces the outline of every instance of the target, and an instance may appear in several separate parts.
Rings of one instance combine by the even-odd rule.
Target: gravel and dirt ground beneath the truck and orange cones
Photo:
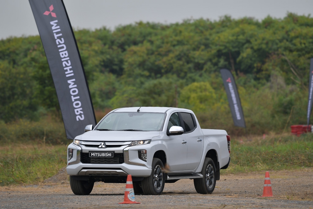
[[[125,184],[97,182],[90,195],[72,193],[64,169],[39,185],[0,187],[0,208],[308,208],[313,209],[313,169],[270,171],[274,197],[263,194],[265,172],[221,175],[211,195],[193,180],[165,184],[160,196],[136,195],[141,204],[121,205]]]

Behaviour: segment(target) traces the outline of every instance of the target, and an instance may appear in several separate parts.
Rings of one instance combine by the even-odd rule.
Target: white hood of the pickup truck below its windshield
[[[159,136],[158,131],[88,131],[75,137],[80,141],[136,141]]]

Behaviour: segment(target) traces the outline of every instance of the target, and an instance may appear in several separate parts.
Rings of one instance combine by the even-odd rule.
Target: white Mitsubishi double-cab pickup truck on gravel
[[[200,194],[211,194],[220,169],[230,162],[224,130],[201,129],[191,110],[127,107],[87,125],[67,149],[67,173],[75,195],[88,195],[94,182],[133,180],[135,194],[160,195],[165,183],[193,179]]]

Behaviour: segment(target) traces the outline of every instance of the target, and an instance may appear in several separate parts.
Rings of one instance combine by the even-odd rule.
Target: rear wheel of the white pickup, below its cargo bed
[[[199,194],[212,194],[216,184],[216,168],[211,158],[205,158],[201,174],[203,178],[193,179],[193,184]]]

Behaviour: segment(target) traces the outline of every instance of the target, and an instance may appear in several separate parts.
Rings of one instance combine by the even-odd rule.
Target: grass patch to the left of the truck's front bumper
[[[66,145],[2,146],[0,185],[38,184],[66,166],[66,154]]]

